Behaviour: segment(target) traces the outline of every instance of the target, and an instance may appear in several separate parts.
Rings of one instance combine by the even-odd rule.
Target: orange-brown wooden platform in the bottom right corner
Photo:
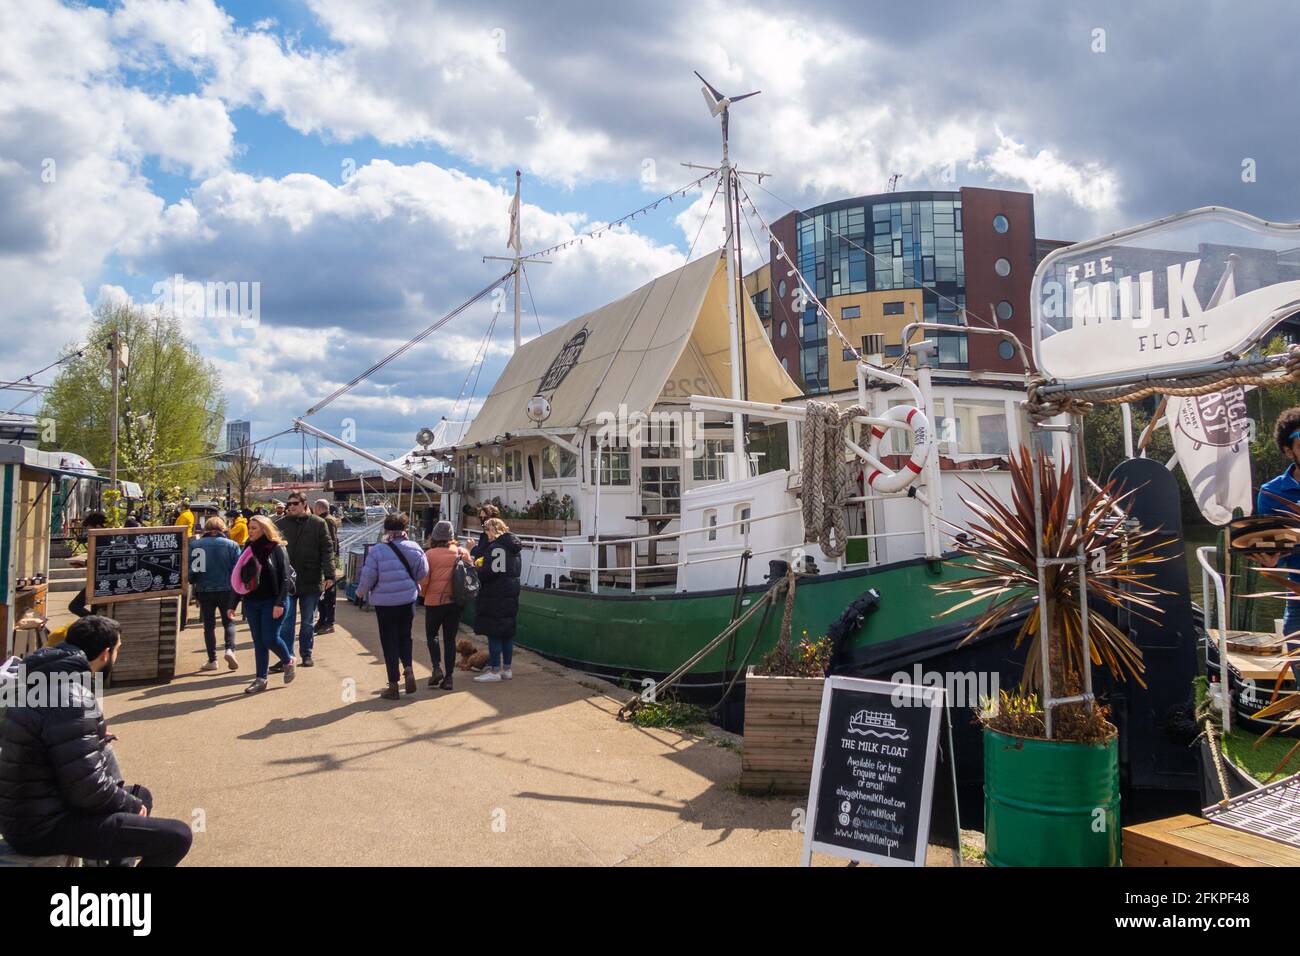
[[[1124,866],[1300,866],[1300,849],[1183,814],[1124,827]]]

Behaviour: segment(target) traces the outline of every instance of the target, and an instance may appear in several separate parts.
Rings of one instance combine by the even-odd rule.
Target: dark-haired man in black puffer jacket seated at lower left
[[[22,661],[25,693],[0,721],[0,834],[20,853],[176,866],[190,852],[188,826],[150,817],[152,795],[109,773],[91,675],[120,646],[117,622],[92,614]]]

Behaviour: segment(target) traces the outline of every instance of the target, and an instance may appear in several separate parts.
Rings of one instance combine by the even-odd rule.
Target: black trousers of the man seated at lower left
[[[140,786],[130,787],[153,810],[153,796]],[[69,813],[55,829],[34,842],[13,848],[27,856],[70,853],[87,860],[140,857],[140,866],[176,866],[190,852],[194,834],[179,819],[157,819],[135,813],[91,816]]]

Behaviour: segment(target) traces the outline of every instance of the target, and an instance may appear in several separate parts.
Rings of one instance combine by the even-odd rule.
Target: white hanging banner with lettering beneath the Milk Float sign
[[[1169,399],[1169,433],[1196,506],[1210,524],[1232,509],[1253,511],[1245,390],[1240,385],[1196,398]]]

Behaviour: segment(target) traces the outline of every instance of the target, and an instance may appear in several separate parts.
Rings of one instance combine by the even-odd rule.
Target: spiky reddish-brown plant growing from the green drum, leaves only
[[[968,561],[970,575],[933,585],[941,593],[967,594],[965,601],[944,611],[957,614],[976,605],[985,605],[975,619],[966,641],[985,633],[1011,615],[1028,609],[1015,636],[1015,646],[1030,641],[1022,689],[1043,689],[1040,641],[1050,641],[1052,696],[1072,697],[1083,688],[1083,615],[1079,609],[1079,572],[1076,564],[1052,564],[1046,568],[1049,618],[1041,626],[1037,606],[1037,554],[1034,548],[1034,458],[1020,447],[1010,462],[1011,501],[1006,503],[992,493],[965,483],[974,498],[962,503],[974,515],[968,527],[953,525],[965,532],[957,550]],[[1089,555],[1088,635],[1092,663],[1106,667],[1117,679],[1132,678],[1143,684],[1141,650],[1123,631],[1101,614],[1101,609],[1126,607],[1138,617],[1154,620],[1161,609],[1153,598],[1167,594],[1148,583],[1152,564],[1169,561],[1161,551],[1170,540],[1157,540],[1157,532],[1126,531],[1132,492],[1117,494],[1114,483],[1100,490],[1086,490],[1083,514],[1070,514],[1074,497],[1074,471],[1066,464],[1058,473],[1046,458],[1037,463],[1043,489],[1043,557],[1072,558],[1080,541]],[[1100,554],[1098,554],[1100,553]],[[1104,555],[1104,563],[1096,559]],[[963,641],[965,643],[965,641]],[[1143,684],[1145,685],[1145,684]]]

